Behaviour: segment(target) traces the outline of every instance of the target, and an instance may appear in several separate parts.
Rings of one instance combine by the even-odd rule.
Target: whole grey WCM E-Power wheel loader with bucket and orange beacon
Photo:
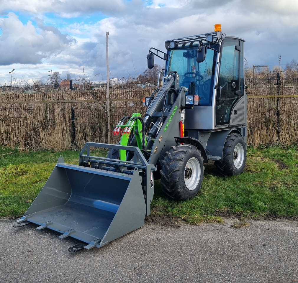
[[[243,171],[246,161],[247,99],[244,40],[220,25],[206,34],[150,48],[164,62],[162,87],[143,99],[145,115],[132,113],[114,127],[118,144],[87,142],[79,165],[60,156],[46,184],[15,226],[50,228],[59,238],[82,242],[69,251],[101,247],[144,225],[150,214],[154,178],[172,200],[195,197],[204,163],[222,175]],[[97,149],[108,154],[94,154]]]

